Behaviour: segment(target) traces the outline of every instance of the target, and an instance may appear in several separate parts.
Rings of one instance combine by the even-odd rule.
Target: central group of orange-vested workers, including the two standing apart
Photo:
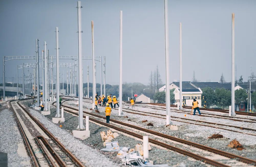
[[[101,106],[101,104],[102,104],[102,106],[105,107],[107,123],[109,123],[109,120],[110,120],[110,113],[111,113],[111,108],[113,108],[113,104],[114,104],[114,108],[116,108],[116,105],[119,107],[118,100],[116,99],[116,96],[113,96],[113,99],[111,96],[112,96],[112,94],[110,94],[106,98],[106,96],[103,94],[101,97],[100,95],[98,95],[98,92],[97,92],[95,94],[95,98],[94,98],[96,110],[98,110],[98,105]],[[131,102],[131,106],[133,108],[134,100],[130,99],[130,102]],[[110,108],[110,106],[111,106],[111,108]]]

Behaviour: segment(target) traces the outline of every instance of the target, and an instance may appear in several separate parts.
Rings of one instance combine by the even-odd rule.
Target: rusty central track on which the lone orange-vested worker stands
[[[63,105],[63,104],[62,104],[62,106],[68,108],[68,109],[64,109],[66,112],[69,112],[69,113],[74,114],[74,115],[78,115],[78,113],[77,113],[78,109],[70,107],[70,106],[66,106],[66,105]],[[105,117],[97,115],[97,114],[93,114],[93,113],[89,113],[89,112],[85,112],[85,111],[83,111],[83,113],[87,114],[87,115],[91,115],[93,117],[105,119]],[[83,117],[85,118],[85,116],[83,116]],[[97,119],[93,119],[91,117],[90,117],[90,120],[94,121],[94,122],[97,122],[97,123],[100,123],[100,124],[102,124],[104,126],[113,128],[115,130],[118,130],[118,131],[130,134],[130,135],[135,136],[137,138],[140,138],[140,139],[143,138],[142,135],[139,135],[139,134],[135,133],[134,130],[133,131],[127,131],[126,129],[119,128],[119,127],[113,126],[111,124],[104,123],[102,121],[99,121]],[[136,130],[139,130],[139,131],[142,131],[142,132],[145,132],[145,133],[156,135],[158,137],[163,137],[164,139],[168,139],[168,140],[175,141],[175,142],[178,142],[178,143],[182,143],[182,144],[185,144],[185,145],[188,145],[188,146],[193,146],[193,147],[196,147],[196,148],[199,148],[199,149],[202,149],[202,150],[206,150],[206,151],[212,152],[212,153],[220,155],[220,156],[228,157],[230,159],[237,159],[238,161],[241,161],[241,162],[244,162],[244,163],[247,163],[247,164],[253,163],[254,165],[256,165],[256,161],[253,160],[253,159],[249,159],[249,158],[245,158],[245,157],[242,157],[242,156],[238,156],[238,155],[226,152],[226,151],[218,150],[218,149],[215,149],[215,148],[211,148],[211,147],[208,147],[208,146],[205,146],[205,145],[201,145],[201,144],[198,144],[198,143],[194,143],[194,142],[190,142],[190,141],[187,141],[187,140],[183,140],[183,139],[180,139],[178,137],[174,137],[174,136],[170,136],[170,135],[167,135],[167,134],[159,133],[159,132],[152,131],[152,130],[149,130],[149,129],[145,129],[145,128],[142,128],[142,127],[137,127],[137,126],[134,126],[134,125],[131,125],[131,124],[128,124],[128,123],[124,123],[124,122],[121,122],[121,121],[117,121],[117,120],[114,120],[114,119],[110,119],[110,121],[114,122],[116,124],[119,124],[121,126],[125,126],[125,127],[129,127],[129,128],[132,128],[132,129],[136,129]],[[204,161],[206,163],[209,163],[209,164],[212,164],[212,165],[215,165],[215,166],[228,166],[228,165],[225,165],[225,164],[217,162],[217,161],[213,162],[213,160],[210,160],[208,158],[205,158],[205,157],[202,157],[202,156],[199,156],[199,155],[195,155],[194,153],[189,152],[189,151],[185,151],[184,149],[175,148],[175,147],[173,147],[171,145],[168,145],[166,143],[154,140],[153,138],[149,138],[149,142],[151,142],[153,144],[156,144],[156,145],[159,145],[159,146],[162,146],[162,147],[165,147],[165,148],[168,148],[170,150],[179,152],[181,154],[193,157],[193,158],[195,158],[197,160],[201,160],[201,161]]]

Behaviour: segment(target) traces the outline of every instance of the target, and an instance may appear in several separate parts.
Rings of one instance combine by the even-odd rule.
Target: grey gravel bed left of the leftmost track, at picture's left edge
[[[18,154],[18,150],[24,150],[22,147],[25,144],[13,111],[10,108],[6,109],[5,106],[1,106],[0,109],[0,136],[0,151],[7,153],[8,166],[31,166],[26,153]]]

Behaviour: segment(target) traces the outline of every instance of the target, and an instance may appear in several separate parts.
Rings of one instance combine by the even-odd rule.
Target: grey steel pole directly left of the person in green
[[[60,78],[59,78],[59,28],[55,27],[55,33],[56,33],[56,104],[57,104],[57,114],[55,117],[60,117]]]

